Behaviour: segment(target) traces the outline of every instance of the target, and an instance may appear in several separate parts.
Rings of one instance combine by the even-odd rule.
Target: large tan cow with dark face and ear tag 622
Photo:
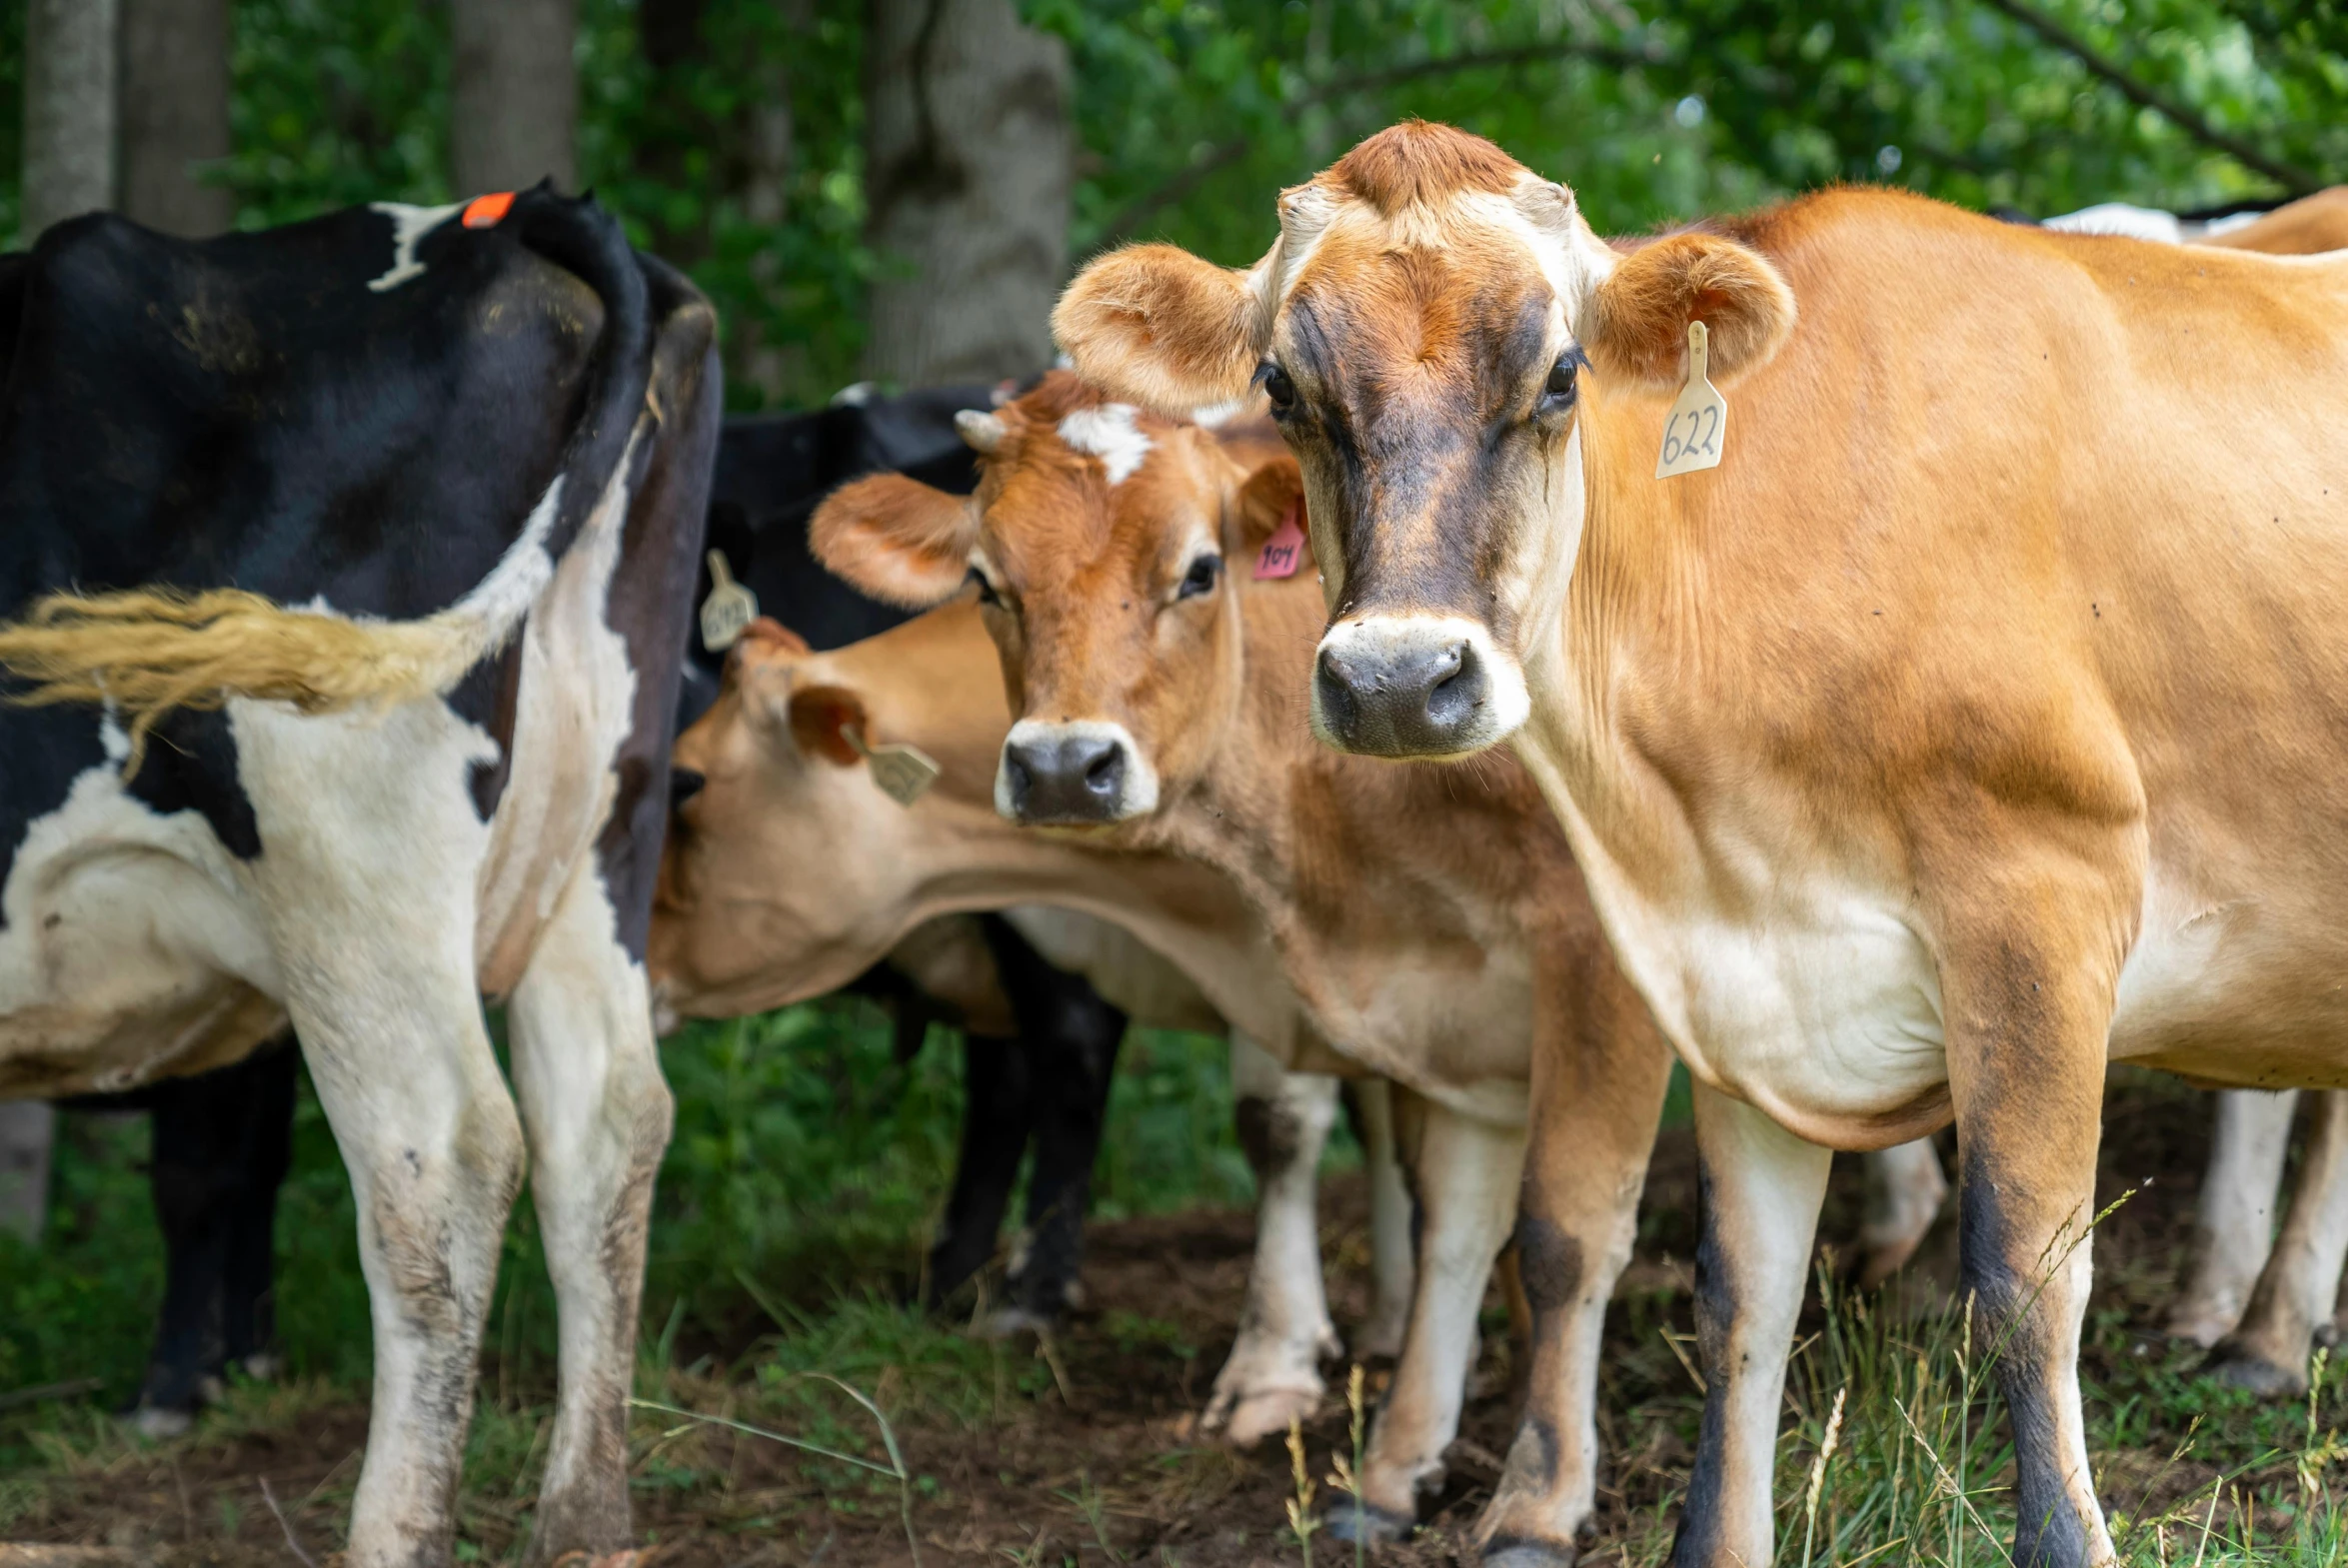
[[[2076,1378],[2104,1063],[2348,1077],[2348,263],[1874,190],[1622,256],[1416,122],[1280,216],[1249,270],[1094,263],[1057,331],[1153,404],[1263,383],[1327,566],[1313,728],[1512,742],[1688,1063],[1676,1559],[1773,1552],[1827,1148],[1954,1117],[2015,1556],[2109,1561]]]

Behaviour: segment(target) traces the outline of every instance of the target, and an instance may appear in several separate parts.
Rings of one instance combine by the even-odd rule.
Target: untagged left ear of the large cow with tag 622
[[[1132,244],[1075,275],[1052,336],[1111,397],[1188,415],[1247,397],[1263,357],[1247,272],[1172,244]]]

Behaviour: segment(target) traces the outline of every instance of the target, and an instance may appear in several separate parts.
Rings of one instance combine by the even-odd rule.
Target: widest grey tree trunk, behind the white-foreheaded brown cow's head
[[[1068,268],[1068,49],[1012,0],[866,0],[866,376],[1028,376]]]

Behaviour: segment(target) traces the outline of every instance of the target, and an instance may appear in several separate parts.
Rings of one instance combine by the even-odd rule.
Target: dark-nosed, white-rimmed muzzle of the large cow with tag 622
[[[1362,756],[1465,756],[1507,739],[1531,702],[1514,660],[1453,615],[1329,627],[1313,660],[1313,732]]]

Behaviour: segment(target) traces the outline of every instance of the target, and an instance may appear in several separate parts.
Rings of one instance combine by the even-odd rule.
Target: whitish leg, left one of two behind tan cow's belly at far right
[[[2165,1333],[2209,1350],[2242,1319],[2275,1239],[2275,1197],[2296,1108],[2296,1089],[2217,1096],[2209,1169],[2193,1207],[2193,1277]]]

